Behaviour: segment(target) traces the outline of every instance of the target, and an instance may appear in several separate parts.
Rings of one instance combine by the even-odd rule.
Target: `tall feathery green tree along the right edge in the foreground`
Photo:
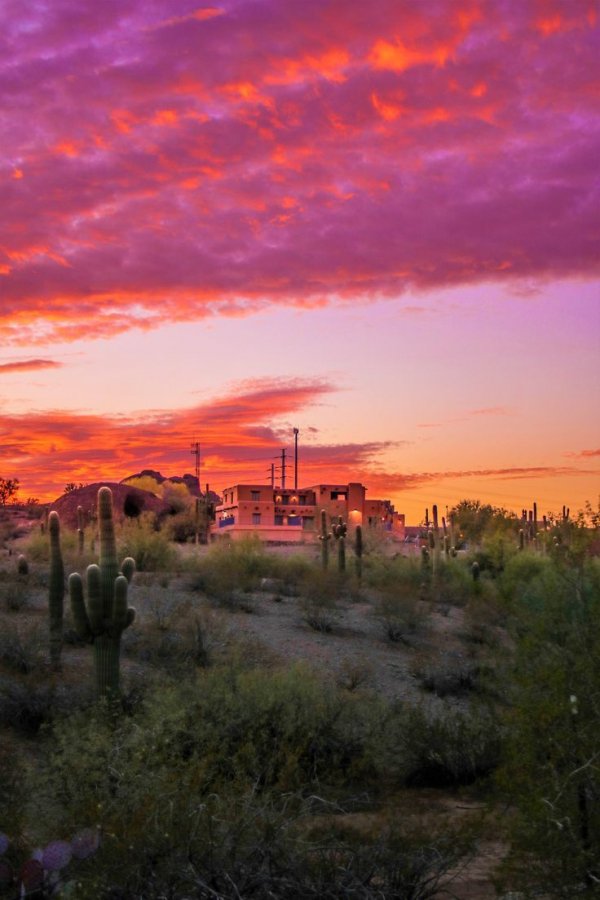
[[[531,896],[600,895],[600,566],[593,535],[517,591],[506,757],[499,780],[516,807],[507,884]]]

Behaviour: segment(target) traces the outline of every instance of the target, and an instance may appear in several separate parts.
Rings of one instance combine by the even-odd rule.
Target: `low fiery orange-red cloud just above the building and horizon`
[[[2,470],[24,495],[52,500],[67,482],[120,480],[143,468],[165,475],[190,471],[190,443],[200,441],[201,478],[217,490],[236,482],[268,484],[282,447],[291,449],[289,417],[304,415],[336,387],[323,379],[249,379],[194,407],[100,416],[50,410],[0,413]],[[597,475],[573,466],[498,467],[431,472],[385,470],[382,460],[407,442],[325,444],[314,427],[301,430],[299,480],[362,481],[370,496],[398,496],[469,478],[527,480]],[[595,455],[591,452],[585,455]],[[291,471],[291,454],[288,456]]]

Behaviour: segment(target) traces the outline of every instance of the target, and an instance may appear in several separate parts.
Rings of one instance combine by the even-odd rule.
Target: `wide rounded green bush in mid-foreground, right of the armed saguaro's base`
[[[302,667],[207,669],[151,691],[116,725],[102,707],[69,716],[54,730],[44,791],[64,809],[67,828],[98,803],[109,817],[122,805],[134,818],[150,807],[158,814],[167,802],[161,785],[202,798],[232,785],[344,783],[372,771],[366,746],[378,710]]]

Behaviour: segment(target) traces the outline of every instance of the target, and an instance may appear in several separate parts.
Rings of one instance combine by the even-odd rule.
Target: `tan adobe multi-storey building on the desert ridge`
[[[223,491],[216,508],[213,533],[239,538],[257,534],[265,541],[300,542],[317,539],[321,510],[328,527],[341,516],[349,529],[362,525],[404,540],[404,515],[389,500],[367,500],[359,482],[317,484],[307,488],[273,488],[270,484],[236,484]]]

